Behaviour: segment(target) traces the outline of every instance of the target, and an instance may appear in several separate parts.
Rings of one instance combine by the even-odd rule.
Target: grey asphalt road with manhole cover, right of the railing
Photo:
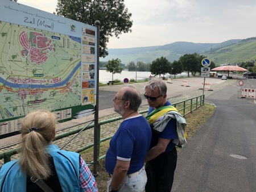
[[[216,111],[178,154],[172,191],[256,191],[256,103],[240,96],[237,81],[207,98]]]

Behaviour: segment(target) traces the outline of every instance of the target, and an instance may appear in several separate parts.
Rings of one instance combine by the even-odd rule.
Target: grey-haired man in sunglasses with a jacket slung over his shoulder
[[[154,126],[155,122],[166,112],[175,111],[178,115],[179,113],[167,100],[167,86],[162,80],[154,79],[149,81],[144,86],[144,91],[144,97],[150,106],[146,118],[152,130],[150,150],[144,160],[147,173],[146,192],[170,192],[177,162],[176,147],[172,143],[173,140],[177,139],[176,119],[169,120],[164,126],[162,124],[159,126],[158,124],[160,131],[155,130]]]

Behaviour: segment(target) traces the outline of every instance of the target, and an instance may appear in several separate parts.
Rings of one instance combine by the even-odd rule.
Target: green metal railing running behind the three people
[[[183,116],[187,115],[189,112],[192,112],[192,111],[196,110],[197,108],[199,108],[202,105],[204,105],[204,95],[189,98],[187,100],[172,104],[172,106],[176,107],[177,110],[180,112],[180,114],[183,115]],[[140,114],[144,114],[144,113],[147,113],[147,112],[148,112],[148,110],[139,111]],[[77,149],[75,152],[80,153],[82,151],[85,151],[86,149],[89,149],[89,148],[93,147],[94,144],[97,142],[98,143],[97,154],[94,153],[94,156],[97,156],[97,162],[99,162],[100,160],[105,158],[105,155],[100,157],[100,145],[99,145],[99,143],[111,139],[113,137],[113,135],[105,137],[103,139],[100,139],[101,125],[111,123],[111,122],[115,122],[115,121],[121,120],[121,119],[122,119],[122,116],[118,116],[117,118],[102,120],[101,122],[98,122],[99,135],[98,135],[97,141],[94,140],[94,143],[86,145],[83,148]],[[90,124],[87,127],[76,128],[75,130],[67,131],[65,133],[61,133],[59,135],[56,135],[55,140],[63,139],[64,137],[74,135],[76,133],[79,133],[80,131],[89,130],[90,128],[93,128],[93,127],[94,127],[94,124]],[[7,152],[0,153],[0,159],[3,159],[4,163],[11,161],[11,156],[18,154],[19,149],[20,149],[20,147],[15,148],[15,149],[11,149]],[[94,162],[89,162],[88,163],[89,166],[93,165],[93,164],[94,164]],[[94,167],[97,168],[97,166],[94,166]],[[93,172],[97,173],[97,170],[94,170]]]

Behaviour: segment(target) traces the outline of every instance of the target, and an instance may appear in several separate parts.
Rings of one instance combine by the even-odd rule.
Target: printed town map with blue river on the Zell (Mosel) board
[[[81,105],[81,38],[0,22],[0,120]]]

